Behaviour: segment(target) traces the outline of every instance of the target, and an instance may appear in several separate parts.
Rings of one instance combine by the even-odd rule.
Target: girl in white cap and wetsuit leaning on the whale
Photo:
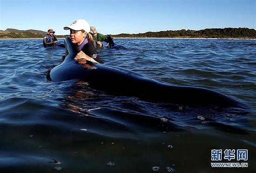
[[[70,26],[64,27],[65,30],[70,30],[70,39],[77,49],[77,55],[74,60],[85,59],[95,63],[104,64],[104,61],[99,57],[94,44],[94,39],[90,33],[90,25],[86,20],[75,20]]]

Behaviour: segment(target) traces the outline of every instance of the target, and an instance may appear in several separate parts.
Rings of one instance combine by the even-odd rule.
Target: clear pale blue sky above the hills
[[[256,29],[256,0],[0,0],[0,30],[69,34],[63,27],[85,19],[99,33],[145,33],[224,27]]]

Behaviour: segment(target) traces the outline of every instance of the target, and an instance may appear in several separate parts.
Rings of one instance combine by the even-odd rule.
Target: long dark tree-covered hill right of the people
[[[195,30],[178,30],[178,31],[160,31],[160,32],[147,32],[147,33],[121,33],[111,35],[115,38],[128,37],[128,38],[254,38],[256,39],[256,30],[249,28],[212,28]]]

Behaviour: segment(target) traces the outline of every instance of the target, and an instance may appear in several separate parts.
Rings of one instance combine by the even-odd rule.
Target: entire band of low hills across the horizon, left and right
[[[27,39],[43,38],[47,32],[40,30],[17,30],[8,28],[5,31],[0,30],[0,39]],[[56,35],[57,38],[65,38],[68,35]],[[147,33],[121,33],[111,35],[115,38],[253,38],[256,39],[256,30],[249,28],[212,28],[195,30],[177,30],[160,31]]]

